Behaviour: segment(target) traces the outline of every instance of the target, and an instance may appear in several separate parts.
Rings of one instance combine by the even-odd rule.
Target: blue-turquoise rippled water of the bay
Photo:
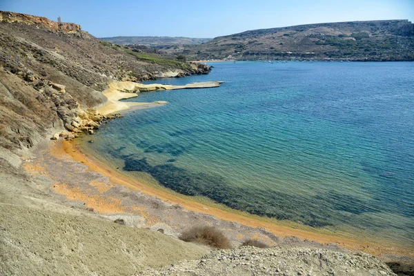
[[[84,146],[179,193],[414,245],[414,63],[212,65],[155,82],[221,88],[143,93],[170,103]]]

